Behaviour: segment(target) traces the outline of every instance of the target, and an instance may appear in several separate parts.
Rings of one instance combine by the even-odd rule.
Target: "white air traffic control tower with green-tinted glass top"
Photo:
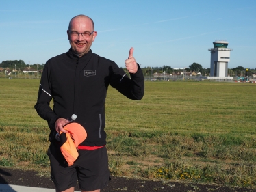
[[[228,62],[230,51],[233,49],[227,48],[229,43],[224,40],[216,40],[213,43],[214,48],[208,49],[211,51],[211,77],[209,79],[229,79],[227,78]]]

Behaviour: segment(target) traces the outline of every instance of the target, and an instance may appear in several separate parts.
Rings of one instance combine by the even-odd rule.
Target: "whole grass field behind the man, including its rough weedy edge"
[[[39,82],[0,79],[1,166],[49,172]],[[256,187],[255,83],[145,83],[140,101],[109,88],[112,175]]]

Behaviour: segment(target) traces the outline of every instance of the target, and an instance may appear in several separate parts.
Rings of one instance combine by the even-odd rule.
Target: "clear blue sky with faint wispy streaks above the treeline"
[[[142,68],[210,67],[215,40],[226,40],[228,68],[256,68],[255,0],[0,0],[0,63],[45,64],[70,48],[78,14],[94,20],[92,52],[125,67],[129,49]]]

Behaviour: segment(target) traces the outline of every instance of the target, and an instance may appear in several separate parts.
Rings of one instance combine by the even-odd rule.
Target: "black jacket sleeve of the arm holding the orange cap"
[[[38,90],[38,100],[34,106],[38,115],[44,120],[47,120],[48,126],[51,130],[55,130],[55,121],[60,118],[50,107],[50,101],[53,98],[51,92],[51,66],[49,61],[44,66],[42,77]]]

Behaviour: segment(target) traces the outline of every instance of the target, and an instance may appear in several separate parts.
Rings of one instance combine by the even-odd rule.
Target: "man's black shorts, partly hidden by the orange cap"
[[[107,149],[105,147],[97,150],[78,150],[79,157],[75,163],[68,166],[60,144],[51,143],[47,155],[51,162],[51,179],[55,188],[65,191],[77,185],[83,191],[94,191],[103,189],[110,180],[108,169]]]

